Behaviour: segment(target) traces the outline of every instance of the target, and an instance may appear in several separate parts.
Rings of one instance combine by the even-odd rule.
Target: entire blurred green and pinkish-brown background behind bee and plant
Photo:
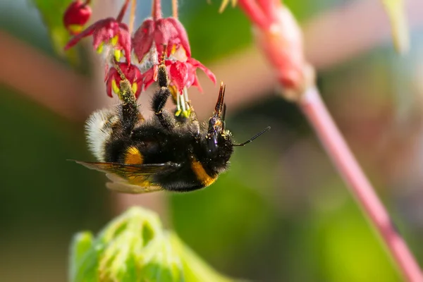
[[[41,1],[42,2],[42,1]],[[58,1],[59,2],[59,1]],[[94,1],[94,18],[120,1]],[[101,4],[99,4],[101,2]],[[137,23],[150,1],[138,1]],[[405,0],[411,49],[399,56],[381,3],[285,1],[305,30],[306,54],[325,102],[376,186],[400,233],[423,264],[423,4]],[[258,281],[400,281],[317,137],[276,81],[237,8],[180,1],[192,54],[227,84],[228,121],[243,141],[231,170],[204,190],[126,196],[101,173],[66,159],[93,160],[87,116],[116,104],[102,85],[90,39],[72,65],[52,47],[35,6],[0,2],[0,281],[66,281],[68,245],[133,204],[161,214],[217,270]],[[65,5],[66,6],[66,5]],[[170,15],[170,1],[163,1]],[[56,13],[62,13],[60,5]],[[190,97],[201,118],[217,87]],[[151,92],[140,99],[142,110]]]

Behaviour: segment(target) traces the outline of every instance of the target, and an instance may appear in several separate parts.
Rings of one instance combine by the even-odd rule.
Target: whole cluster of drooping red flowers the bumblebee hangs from
[[[118,93],[118,85],[121,81],[121,76],[113,67],[115,63],[131,82],[135,96],[138,97],[157,80],[159,62],[164,60],[168,70],[169,87],[178,97],[178,110],[180,106],[183,106],[185,110],[185,104],[188,103],[188,88],[195,86],[201,91],[197,68],[204,71],[214,83],[216,83],[216,77],[202,63],[192,58],[185,28],[178,18],[161,18],[160,5],[153,8],[152,18],[144,20],[131,35],[128,25],[122,23],[128,2],[129,0],[125,1],[116,18],[98,20],[85,30],[82,30],[82,25],[87,23],[89,18],[89,15],[84,13],[87,3],[82,4],[80,0],[72,2],[66,10],[63,23],[75,36],[66,44],[65,49],[73,47],[84,37],[93,37],[92,46],[104,55],[105,82],[109,96],[113,92]],[[72,32],[76,30],[73,25],[78,25],[80,32]],[[186,114],[185,111],[184,114]]]

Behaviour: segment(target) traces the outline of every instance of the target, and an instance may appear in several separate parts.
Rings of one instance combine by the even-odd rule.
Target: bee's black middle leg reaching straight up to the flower
[[[164,105],[166,104],[168,97],[171,96],[171,90],[168,88],[166,66],[164,66],[164,64],[159,66],[157,78],[160,88],[154,92],[152,109],[154,114],[156,114],[159,123],[161,123],[164,128],[170,129],[175,125],[175,118],[173,118],[173,115],[169,114],[167,111],[164,111]]]

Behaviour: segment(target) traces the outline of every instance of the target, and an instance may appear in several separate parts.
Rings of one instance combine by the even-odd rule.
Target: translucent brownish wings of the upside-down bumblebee
[[[180,167],[176,163],[163,164],[118,164],[75,161],[90,169],[106,173],[112,182],[106,183],[106,187],[123,193],[140,194],[154,192],[162,188],[152,181],[152,177],[161,173],[171,173]]]

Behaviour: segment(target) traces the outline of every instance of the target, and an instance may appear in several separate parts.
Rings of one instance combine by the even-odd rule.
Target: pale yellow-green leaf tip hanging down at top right
[[[381,0],[391,21],[393,44],[396,51],[405,54],[410,49],[407,18],[403,0]]]

